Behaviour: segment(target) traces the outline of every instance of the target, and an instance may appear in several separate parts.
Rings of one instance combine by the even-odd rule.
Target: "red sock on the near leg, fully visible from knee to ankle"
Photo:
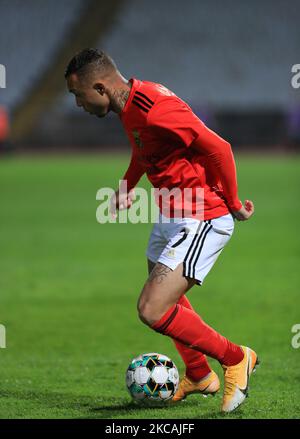
[[[226,366],[238,364],[244,357],[240,346],[208,326],[195,311],[179,304],[172,306],[152,328]]]

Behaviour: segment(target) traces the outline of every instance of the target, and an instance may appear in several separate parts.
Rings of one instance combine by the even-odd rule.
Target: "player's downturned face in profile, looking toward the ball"
[[[110,111],[110,99],[102,84],[79,81],[75,74],[68,77],[67,83],[70,93],[75,96],[76,104],[87,113],[104,117]]]

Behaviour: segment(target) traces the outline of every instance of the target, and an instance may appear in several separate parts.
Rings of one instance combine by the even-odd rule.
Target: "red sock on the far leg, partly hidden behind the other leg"
[[[179,305],[185,308],[193,310],[192,305],[186,296],[182,296],[178,302]],[[211,368],[207,362],[206,356],[202,352],[196,351],[187,347],[180,341],[174,340],[177,351],[179,352],[181,358],[186,366],[185,374],[192,381],[200,381],[202,378],[206,377],[210,372]]]

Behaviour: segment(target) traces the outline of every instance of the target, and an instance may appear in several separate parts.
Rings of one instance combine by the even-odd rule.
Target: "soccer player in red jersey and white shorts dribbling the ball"
[[[173,339],[186,365],[173,400],[195,392],[218,392],[220,383],[207,362],[209,356],[224,370],[222,411],[231,412],[246,398],[257,354],[208,326],[185,295],[195,284],[202,285],[233,233],[234,218],[245,221],[254,213],[252,201],[243,204],[238,198],[231,146],[164,86],[125,79],[103,51],[85,49],[75,55],[65,78],[79,107],[101,118],[113,111],[129,137],[132,157],[123,176],[127,192],[116,191],[118,209],[132,205],[133,188],[144,173],[155,188],[200,188],[203,193],[200,219],[198,212],[174,215],[178,210],[174,200],[165,217],[160,205],[148,244],[149,277],[138,313],[143,323]],[[190,200],[191,213],[196,201]]]

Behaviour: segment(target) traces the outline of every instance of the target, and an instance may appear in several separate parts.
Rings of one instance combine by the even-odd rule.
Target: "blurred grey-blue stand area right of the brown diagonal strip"
[[[128,1],[98,42],[127,77],[162,82],[216,109],[289,104],[300,41],[297,0],[289,7],[274,0],[171,3]]]

